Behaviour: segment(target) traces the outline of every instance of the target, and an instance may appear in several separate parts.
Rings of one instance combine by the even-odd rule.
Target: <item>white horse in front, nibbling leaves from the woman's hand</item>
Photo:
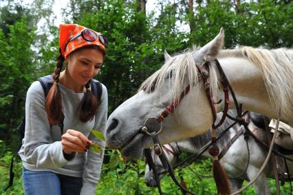
[[[170,57],[162,68],[142,83],[137,94],[122,103],[109,116],[105,134],[111,148],[120,148],[122,155],[138,159],[144,148],[153,145],[150,136],[140,129],[144,121],[158,117],[186,89],[190,92],[162,123],[158,134],[162,144],[197,136],[213,124],[213,114],[206,96],[204,81],[197,76],[197,66],[208,62],[208,82],[215,102],[223,99],[221,76],[215,66],[218,59],[237,100],[243,110],[276,118],[281,110],[281,121],[293,126],[293,50],[243,47],[221,50],[224,30],[199,50],[191,50]],[[230,98],[229,109],[235,108]],[[217,112],[224,110],[224,101],[215,105]]]

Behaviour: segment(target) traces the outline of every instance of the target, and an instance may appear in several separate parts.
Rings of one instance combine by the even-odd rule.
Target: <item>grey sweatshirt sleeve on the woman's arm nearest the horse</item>
[[[105,134],[108,112],[108,93],[105,85],[102,85],[102,96],[98,113],[96,114],[95,130],[99,130]],[[102,147],[102,154],[89,150],[87,152],[87,162],[83,172],[83,188],[80,195],[95,194],[100,173],[102,170],[102,159],[105,151],[105,141],[98,140],[92,133],[89,134],[89,140],[98,143]]]

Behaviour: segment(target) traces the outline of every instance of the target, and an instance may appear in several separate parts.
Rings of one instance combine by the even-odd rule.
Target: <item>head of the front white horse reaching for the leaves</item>
[[[215,39],[199,50],[175,57],[165,55],[162,68],[146,79],[138,93],[109,116],[106,132],[109,147],[120,148],[122,155],[127,158],[140,158],[143,148],[153,144],[150,136],[141,132],[144,122],[160,116],[168,105],[173,105],[180,98],[188,85],[190,92],[185,94],[174,112],[162,121],[162,132],[158,134],[160,142],[170,143],[206,132],[213,123],[213,114],[197,67],[214,61],[223,43],[224,30],[221,29]],[[213,62],[209,65],[207,80],[213,94],[217,95],[215,89],[218,89],[218,79]]]

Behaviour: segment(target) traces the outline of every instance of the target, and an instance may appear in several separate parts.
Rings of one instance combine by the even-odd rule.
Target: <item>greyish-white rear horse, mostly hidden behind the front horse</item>
[[[217,119],[221,119],[221,115],[217,115]],[[227,127],[232,125],[234,121],[230,119],[226,120],[221,127],[219,127],[219,132],[223,132]],[[254,135],[261,139],[261,141],[265,142],[265,130],[259,129],[252,121],[249,121],[250,130]],[[224,136],[222,136],[217,145],[219,146],[220,151],[225,145],[232,139],[237,132],[241,131],[243,127],[239,124],[235,124],[230,128]],[[201,152],[202,147],[206,145],[210,141],[211,138],[211,130],[208,132],[201,134],[199,136],[195,136],[193,138],[188,138],[186,140],[177,141],[168,143],[163,145],[163,150],[166,154],[166,158],[168,158],[171,165],[175,165],[178,163],[178,156],[180,152],[188,152],[190,154],[199,154]],[[249,153],[248,153],[249,151]],[[155,162],[155,169],[158,173],[164,172],[165,168],[162,165],[160,158],[155,155],[153,150],[151,150],[151,154],[153,156],[153,161]],[[266,155],[268,154],[268,150],[265,150],[264,147],[261,147],[257,143],[257,141],[250,136],[248,138],[248,148],[246,147],[246,140],[244,139],[244,134],[241,134],[232,145],[230,145],[229,149],[226,151],[224,156],[221,158],[220,163],[226,170],[228,176],[231,192],[235,192],[242,187],[243,181],[251,181],[252,178],[259,172],[263,161],[265,160]],[[208,152],[204,152],[202,156],[211,157]],[[247,164],[248,163],[248,164]],[[291,163],[291,162],[290,162]],[[248,165],[248,166],[247,166]],[[291,164],[292,165],[292,164]],[[292,167],[292,166],[291,166]],[[290,167],[290,168],[291,168]],[[291,175],[293,174],[293,167],[290,169]],[[159,180],[165,174],[159,174]],[[268,185],[267,176],[270,178],[274,177],[274,172],[272,169],[272,165],[269,164],[265,171],[261,173],[261,175],[257,178],[257,180],[253,183],[253,187],[255,192],[258,195],[268,195],[270,193],[270,187]],[[145,169],[145,181],[146,185],[150,187],[157,187],[158,183],[155,181],[153,176],[153,172],[149,170],[149,165],[146,165]]]

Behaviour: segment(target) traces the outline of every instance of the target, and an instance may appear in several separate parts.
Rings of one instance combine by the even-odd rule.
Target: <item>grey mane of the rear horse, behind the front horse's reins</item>
[[[222,113],[222,112],[220,112]],[[237,116],[237,112],[236,110],[228,110],[228,114],[230,116]],[[219,121],[221,120],[221,116],[222,114],[217,114],[217,120],[216,123],[219,123]],[[217,135],[219,136],[219,134],[221,134],[221,132],[224,132],[224,130],[226,130],[227,127],[229,127],[230,125],[232,125],[232,123],[234,123],[235,121],[232,121],[231,119],[228,119],[228,117],[226,118],[226,120],[224,121],[224,123],[217,129]],[[233,128],[239,128],[239,124],[236,123]],[[193,144],[193,147],[195,148],[195,150],[199,150],[200,148],[202,148],[204,145],[206,145],[206,143],[208,143],[209,141],[211,141],[212,139],[212,130],[208,130],[208,132],[205,132],[204,134],[200,134],[198,136],[189,138],[191,143]],[[222,147],[224,147],[226,145],[226,143],[228,143],[228,141],[230,141],[230,130],[228,130],[228,132],[226,132],[221,138],[219,138],[219,140],[217,141],[217,145],[219,147],[219,149],[221,150]]]

